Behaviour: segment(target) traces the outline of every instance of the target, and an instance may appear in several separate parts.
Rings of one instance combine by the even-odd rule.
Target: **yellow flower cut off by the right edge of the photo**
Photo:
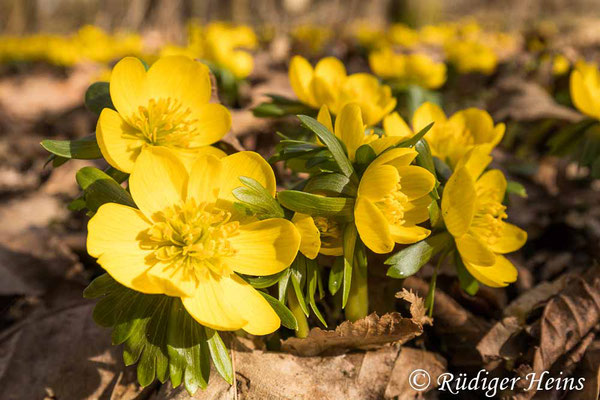
[[[579,111],[600,119],[600,71],[592,63],[583,61],[571,73],[571,99]]]

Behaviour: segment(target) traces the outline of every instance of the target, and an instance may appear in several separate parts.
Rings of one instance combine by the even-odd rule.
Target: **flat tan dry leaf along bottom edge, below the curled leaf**
[[[418,398],[407,378],[414,369],[430,372],[433,390],[446,361],[424,350],[389,346],[365,353],[299,357],[262,351],[235,352],[236,382],[231,387],[216,373],[194,396],[163,385],[153,400],[381,400]]]

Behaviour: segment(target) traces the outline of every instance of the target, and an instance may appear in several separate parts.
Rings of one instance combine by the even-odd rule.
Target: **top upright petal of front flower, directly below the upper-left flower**
[[[166,147],[146,147],[129,177],[135,204],[148,218],[180,204],[186,198],[188,173],[175,153]]]

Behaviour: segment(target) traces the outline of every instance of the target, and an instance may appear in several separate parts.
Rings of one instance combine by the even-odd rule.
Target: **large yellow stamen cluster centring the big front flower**
[[[155,214],[144,244],[154,249],[157,261],[184,267],[198,279],[209,271],[228,276],[232,271],[223,258],[236,253],[229,239],[239,229],[239,222],[230,218],[229,212],[188,200]]]

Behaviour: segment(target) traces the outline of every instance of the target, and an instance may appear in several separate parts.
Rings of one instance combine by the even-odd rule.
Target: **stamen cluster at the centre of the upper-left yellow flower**
[[[197,120],[191,110],[176,99],[150,99],[148,106],[139,106],[129,119],[146,142],[157,146],[189,147]]]

